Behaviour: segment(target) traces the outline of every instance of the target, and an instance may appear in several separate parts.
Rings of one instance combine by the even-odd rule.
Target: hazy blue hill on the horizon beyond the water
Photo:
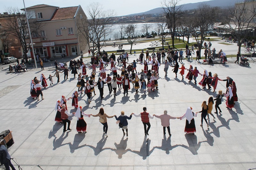
[[[189,4],[184,4],[183,9],[184,10],[193,10],[196,9],[199,4],[205,3],[210,6],[220,6],[222,7],[228,7],[229,5],[235,4],[235,2],[241,2],[242,0],[211,0],[211,1],[204,1],[204,2],[197,2],[197,3],[189,3]],[[147,14],[159,14],[162,13],[163,9],[162,8],[155,8],[146,12],[140,12],[136,14],[130,14],[129,16],[135,16],[135,15],[147,15]]]

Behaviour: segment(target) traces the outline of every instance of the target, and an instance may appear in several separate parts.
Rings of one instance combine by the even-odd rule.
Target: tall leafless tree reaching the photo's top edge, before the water
[[[180,5],[181,0],[163,0],[161,6],[166,14],[168,28],[172,35],[172,47],[174,48],[174,36],[177,30],[179,18],[183,15],[183,5]]]

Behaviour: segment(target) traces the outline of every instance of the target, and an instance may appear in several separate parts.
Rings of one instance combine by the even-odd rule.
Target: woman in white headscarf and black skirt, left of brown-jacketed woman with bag
[[[82,110],[82,106],[79,106],[76,110],[76,118],[77,118],[77,122],[76,122],[76,131],[78,133],[87,133],[86,132],[86,127],[87,124],[84,121],[84,116],[85,117],[91,117],[91,115],[89,114],[85,114],[84,112],[81,111]]]

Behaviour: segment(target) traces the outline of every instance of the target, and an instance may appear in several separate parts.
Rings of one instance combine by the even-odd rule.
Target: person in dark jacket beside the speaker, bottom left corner
[[[12,170],[16,170],[15,167],[12,165],[11,156],[7,151],[7,148],[4,145],[0,144],[0,162],[5,166],[6,170],[10,170],[10,166]]]

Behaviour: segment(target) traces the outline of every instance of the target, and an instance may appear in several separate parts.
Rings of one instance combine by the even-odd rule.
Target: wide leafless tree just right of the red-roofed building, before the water
[[[86,7],[88,19],[83,18],[82,22],[77,24],[77,30],[88,40],[92,55],[104,46],[108,35],[111,34],[115,11],[107,10],[100,3],[91,3]]]

